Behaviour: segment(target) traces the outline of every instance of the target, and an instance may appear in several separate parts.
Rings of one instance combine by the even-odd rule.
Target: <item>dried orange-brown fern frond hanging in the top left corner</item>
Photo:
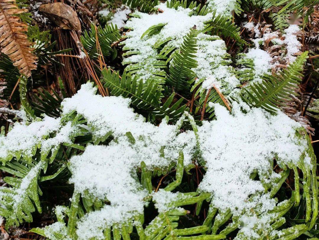
[[[16,16],[27,9],[19,9],[15,0],[0,0],[0,46],[1,52],[8,55],[21,74],[31,76],[31,70],[36,69],[38,57],[32,53],[31,43],[24,32],[28,25]]]

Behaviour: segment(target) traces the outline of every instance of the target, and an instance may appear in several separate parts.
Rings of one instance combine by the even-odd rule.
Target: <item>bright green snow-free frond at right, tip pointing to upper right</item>
[[[290,95],[295,95],[294,89],[301,81],[301,72],[307,58],[308,52],[303,52],[287,69],[264,76],[262,83],[253,83],[250,88],[244,88],[248,97],[241,95],[242,100],[251,107],[277,112],[278,105],[283,105],[289,101]]]

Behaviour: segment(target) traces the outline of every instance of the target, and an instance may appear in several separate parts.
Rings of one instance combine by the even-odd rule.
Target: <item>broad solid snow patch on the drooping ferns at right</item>
[[[232,114],[215,105],[215,114],[217,121],[204,122],[198,128],[207,167],[199,189],[213,193],[217,208],[240,214],[247,209],[248,197],[264,190],[262,182],[251,180],[250,174],[267,175],[276,156],[279,164],[298,165],[307,143],[300,144],[295,137],[295,129],[301,125],[281,112],[273,116],[253,108],[244,114],[234,104]],[[272,179],[276,174],[265,177]]]

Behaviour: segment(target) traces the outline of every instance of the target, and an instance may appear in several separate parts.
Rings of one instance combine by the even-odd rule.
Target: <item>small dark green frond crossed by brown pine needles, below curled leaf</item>
[[[106,25],[104,28],[100,26],[97,27],[97,36],[104,57],[109,56],[112,52],[111,44],[121,38],[116,25],[113,26],[112,23],[110,25]],[[84,31],[81,36],[81,43],[90,58],[99,57],[96,49],[96,31],[94,24],[91,24],[91,31]]]

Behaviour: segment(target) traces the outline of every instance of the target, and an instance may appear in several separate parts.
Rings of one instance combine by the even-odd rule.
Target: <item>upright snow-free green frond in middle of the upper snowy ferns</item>
[[[192,28],[184,39],[180,49],[174,52],[174,57],[169,64],[169,74],[167,83],[170,84],[176,91],[188,92],[190,84],[195,78],[191,68],[197,67],[197,62],[194,59],[197,52],[197,36],[198,32]]]

